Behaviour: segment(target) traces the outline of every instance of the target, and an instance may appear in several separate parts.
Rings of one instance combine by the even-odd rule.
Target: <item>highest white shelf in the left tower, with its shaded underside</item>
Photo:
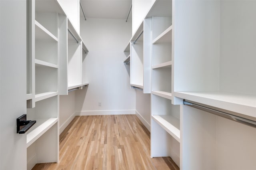
[[[35,30],[36,30],[36,39],[40,39],[40,40],[51,39],[58,42],[58,38],[56,38],[50,31],[44,28],[44,26],[42,26],[36,20],[35,20]]]

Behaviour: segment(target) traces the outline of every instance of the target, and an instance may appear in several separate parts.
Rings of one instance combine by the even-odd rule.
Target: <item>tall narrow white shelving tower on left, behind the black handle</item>
[[[36,124],[27,132],[27,169],[59,157],[59,19],[66,15],[58,0],[32,0],[28,8],[27,119]]]

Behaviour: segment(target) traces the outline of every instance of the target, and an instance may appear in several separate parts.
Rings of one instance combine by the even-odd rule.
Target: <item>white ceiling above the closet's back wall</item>
[[[132,0],[80,0],[86,18],[110,18],[126,20]],[[80,20],[84,15],[80,8]],[[129,19],[132,18],[132,11]]]

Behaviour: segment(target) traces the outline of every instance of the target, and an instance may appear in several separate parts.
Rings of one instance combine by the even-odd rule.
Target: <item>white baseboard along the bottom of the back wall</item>
[[[107,110],[107,111],[80,111],[76,112],[78,116],[95,116],[95,115],[134,115],[135,110]]]

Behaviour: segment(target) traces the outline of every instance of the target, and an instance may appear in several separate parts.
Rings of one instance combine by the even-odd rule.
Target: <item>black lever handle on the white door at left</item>
[[[18,117],[17,119],[17,133],[18,134],[24,134],[28,129],[30,129],[36,121],[27,121],[27,115],[22,115]]]

